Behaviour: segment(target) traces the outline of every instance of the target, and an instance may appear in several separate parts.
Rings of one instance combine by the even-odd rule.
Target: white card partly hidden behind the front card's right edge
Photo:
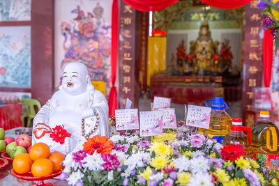
[[[164,128],[176,128],[176,115],[175,109],[159,109],[163,111],[163,129]]]

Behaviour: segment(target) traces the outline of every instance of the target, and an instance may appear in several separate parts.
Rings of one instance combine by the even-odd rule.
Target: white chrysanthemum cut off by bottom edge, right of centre
[[[211,182],[209,173],[196,173],[194,174],[187,184],[187,186],[214,186]]]

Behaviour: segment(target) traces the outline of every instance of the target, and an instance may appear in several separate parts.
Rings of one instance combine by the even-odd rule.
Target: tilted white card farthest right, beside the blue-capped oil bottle
[[[208,129],[210,122],[210,107],[188,105],[186,125]]]

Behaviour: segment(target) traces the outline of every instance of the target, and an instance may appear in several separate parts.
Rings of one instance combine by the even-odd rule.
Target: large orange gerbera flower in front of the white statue
[[[89,152],[91,155],[95,150],[99,154],[110,154],[113,147],[113,143],[108,137],[100,137],[100,135],[87,139],[83,144],[83,150]]]

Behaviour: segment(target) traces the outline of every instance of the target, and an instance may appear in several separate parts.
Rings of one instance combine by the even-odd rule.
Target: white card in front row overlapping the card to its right
[[[140,111],[140,136],[163,134],[163,111]]]

